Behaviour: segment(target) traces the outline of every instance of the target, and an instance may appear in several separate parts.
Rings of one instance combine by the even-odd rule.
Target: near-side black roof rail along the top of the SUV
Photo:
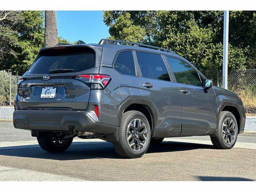
[[[140,43],[134,43],[134,42],[128,42],[128,41],[120,41],[120,40],[114,40],[114,39],[101,39],[98,44],[100,44],[100,45],[106,45],[106,44],[115,44],[115,45],[117,45],[117,44],[131,44],[132,46],[146,47],[146,48],[150,48],[150,49],[156,49],[156,50],[161,50],[161,51],[165,51],[165,52],[170,52],[170,53],[176,54],[172,50],[168,50],[168,49],[164,49],[164,48],[160,48],[160,47],[156,47],[156,46],[152,46],[152,45],[146,45],[146,44],[140,44]]]

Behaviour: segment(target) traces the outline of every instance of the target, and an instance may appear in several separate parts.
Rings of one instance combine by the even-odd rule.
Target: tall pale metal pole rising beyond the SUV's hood
[[[228,88],[228,11],[224,11],[222,87]]]

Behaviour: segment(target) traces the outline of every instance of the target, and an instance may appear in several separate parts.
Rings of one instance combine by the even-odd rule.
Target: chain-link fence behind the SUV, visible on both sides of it
[[[214,85],[222,86],[222,70],[202,70]],[[20,76],[0,71],[0,106],[13,105],[17,92],[17,81]],[[228,70],[228,89],[236,92],[244,102],[245,112],[256,116],[256,69]]]

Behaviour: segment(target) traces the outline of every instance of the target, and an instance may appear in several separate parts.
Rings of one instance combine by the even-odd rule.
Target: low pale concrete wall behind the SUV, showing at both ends
[[[14,111],[14,107],[0,107],[0,119],[4,120],[12,120],[12,113]],[[245,124],[246,131],[256,131],[256,116],[254,117],[246,117]]]

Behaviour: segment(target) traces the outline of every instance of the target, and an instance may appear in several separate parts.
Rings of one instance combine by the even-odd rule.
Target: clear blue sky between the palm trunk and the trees
[[[70,42],[98,43],[109,36],[102,11],[56,11],[58,36]]]

